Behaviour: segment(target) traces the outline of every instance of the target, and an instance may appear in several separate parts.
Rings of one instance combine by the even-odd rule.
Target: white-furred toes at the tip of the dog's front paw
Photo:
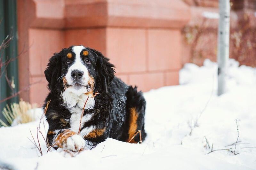
[[[69,151],[79,151],[84,148],[85,141],[80,135],[73,135],[67,139],[66,148]]]

